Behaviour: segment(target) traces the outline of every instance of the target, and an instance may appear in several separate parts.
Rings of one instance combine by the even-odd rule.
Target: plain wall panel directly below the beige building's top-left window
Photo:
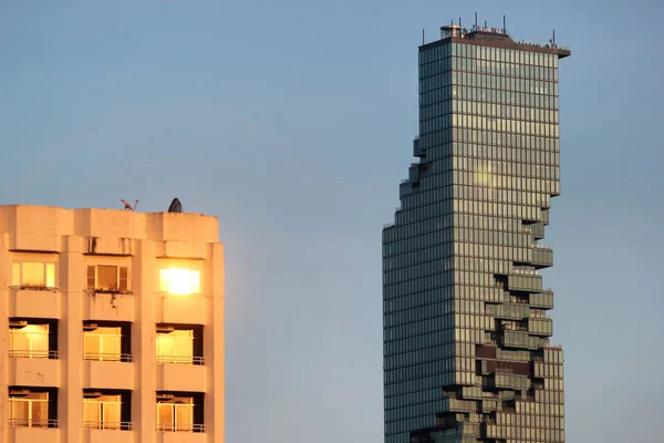
[[[9,317],[60,318],[61,295],[58,289],[12,287]]]

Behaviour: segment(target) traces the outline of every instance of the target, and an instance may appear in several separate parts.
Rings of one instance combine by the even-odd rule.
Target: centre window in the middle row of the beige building
[[[131,324],[84,322],[83,359],[97,361],[132,361]]]

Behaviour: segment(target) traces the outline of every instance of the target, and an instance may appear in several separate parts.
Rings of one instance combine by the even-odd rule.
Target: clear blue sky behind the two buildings
[[[227,442],[381,442],[381,228],[452,18],[569,43],[544,243],[568,441],[664,433],[664,2],[0,1],[0,204],[219,217]]]

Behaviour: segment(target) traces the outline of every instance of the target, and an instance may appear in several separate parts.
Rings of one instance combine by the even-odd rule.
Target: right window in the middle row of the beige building
[[[203,364],[203,327],[157,324],[157,363]]]

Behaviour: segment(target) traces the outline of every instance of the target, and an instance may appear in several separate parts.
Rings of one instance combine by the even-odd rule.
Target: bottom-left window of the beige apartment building
[[[12,427],[58,427],[56,390],[9,388],[9,424]]]

